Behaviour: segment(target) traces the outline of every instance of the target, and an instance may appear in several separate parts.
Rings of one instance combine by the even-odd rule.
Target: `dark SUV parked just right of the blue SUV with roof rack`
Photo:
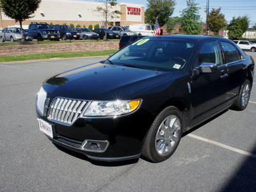
[[[57,29],[60,32],[62,40],[76,39],[79,40],[80,35],[77,31],[67,25],[54,25],[52,28]]]

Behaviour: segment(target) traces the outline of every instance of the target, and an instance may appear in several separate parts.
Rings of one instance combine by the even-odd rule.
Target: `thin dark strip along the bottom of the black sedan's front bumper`
[[[68,148],[65,147],[61,147],[60,145],[56,145],[55,143],[52,143],[53,145],[55,145],[55,147],[57,147],[59,150],[65,152],[66,154],[70,155],[70,156],[74,156],[78,159],[84,160],[84,161],[88,161],[94,165],[97,166],[124,166],[124,165],[128,165],[128,164],[134,164],[134,163],[138,163],[139,158],[137,159],[131,159],[131,160],[126,160],[126,161],[95,161],[93,159],[90,159],[88,157],[86,157],[84,154],[81,154],[79,152],[75,152],[73,150],[69,150]]]

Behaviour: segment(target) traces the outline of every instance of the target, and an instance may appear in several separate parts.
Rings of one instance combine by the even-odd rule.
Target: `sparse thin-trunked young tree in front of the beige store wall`
[[[101,3],[104,4],[104,6],[97,6],[96,12],[99,12],[100,15],[104,18],[105,22],[105,36],[104,39],[107,39],[107,24],[108,24],[108,19],[114,19],[114,18],[119,18],[118,15],[122,14],[118,10],[113,10],[113,6],[116,6],[116,0],[97,0]]]

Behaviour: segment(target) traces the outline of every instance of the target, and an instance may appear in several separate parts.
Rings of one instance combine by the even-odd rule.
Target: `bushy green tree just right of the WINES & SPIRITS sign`
[[[145,22],[155,24],[158,17],[159,26],[162,27],[172,16],[175,1],[174,0],[147,0],[148,8],[145,12]]]

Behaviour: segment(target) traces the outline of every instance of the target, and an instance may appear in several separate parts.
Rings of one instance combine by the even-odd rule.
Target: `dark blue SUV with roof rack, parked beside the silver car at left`
[[[31,22],[28,26],[28,31],[33,38],[38,41],[41,40],[60,40],[60,33],[58,30],[53,29],[46,22]]]

